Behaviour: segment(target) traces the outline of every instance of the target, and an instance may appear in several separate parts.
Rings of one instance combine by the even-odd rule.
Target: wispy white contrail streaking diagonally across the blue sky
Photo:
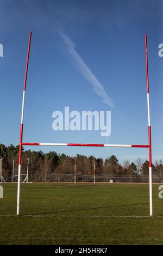
[[[75,44],[73,41],[64,32],[59,31],[58,33],[64,41],[66,50],[70,54],[75,64],[74,68],[76,68],[76,70],[85,78],[85,80],[92,85],[93,90],[98,96],[102,97],[104,103],[108,104],[110,107],[114,107],[114,103],[108,94],[106,94],[103,85],[97,80],[96,76],[93,75],[90,68],[84,63],[82,57],[80,57],[79,53],[75,50]]]

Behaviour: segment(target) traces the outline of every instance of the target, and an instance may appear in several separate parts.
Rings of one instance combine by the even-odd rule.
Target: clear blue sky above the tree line
[[[0,43],[4,47],[4,57],[0,58],[1,143],[19,143],[24,70],[32,31],[24,142],[148,144],[147,33],[153,161],[163,158],[163,57],[158,56],[158,45],[163,43],[162,1],[0,0],[0,20]],[[95,92],[90,74],[86,79],[63,35],[114,106]],[[52,113],[64,111],[65,106],[79,112],[111,111],[111,135],[106,138],[99,131],[54,131]],[[104,158],[115,154],[120,162],[148,159],[148,149],[31,149]]]

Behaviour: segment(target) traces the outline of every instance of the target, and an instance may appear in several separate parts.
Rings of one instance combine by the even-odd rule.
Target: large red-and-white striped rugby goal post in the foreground
[[[21,160],[22,160],[22,146],[23,145],[41,145],[41,146],[67,146],[67,147],[122,147],[122,148],[148,148],[149,150],[149,216],[153,215],[152,205],[152,151],[151,151],[151,123],[150,123],[150,107],[149,107],[149,78],[148,78],[148,53],[147,53],[147,35],[145,35],[145,54],[146,54],[146,80],[147,80],[147,108],[148,108],[148,144],[83,144],[83,143],[32,143],[23,142],[23,115],[24,115],[24,101],[26,94],[26,82],[27,72],[29,63],[29,52],[30,52],[30,41],[32,32],[29,33],[28,51],[27,51],[27,62],[26,71],[24,77],[24,89],[22,99],[22,114],[21,114],[21,126],[20,126],[20,147],[18,157],[18,184],[17,184],[17,215],[20,214],[20,185],[21,185]]]

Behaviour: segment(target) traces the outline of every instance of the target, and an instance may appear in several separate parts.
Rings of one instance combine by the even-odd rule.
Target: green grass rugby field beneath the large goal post
[[[3,187],[1,245],[163,244],[159,185],[153,185],[152,218],[148,184],[22,184],[19,217],[17,184]]]

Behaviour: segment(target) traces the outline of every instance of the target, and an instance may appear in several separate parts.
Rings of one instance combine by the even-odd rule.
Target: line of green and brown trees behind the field
[[[5,146],[0,144],[0,159],[3,158],[3,175],[5,178],[12,176],[13,160],[14,174],[18,170],[18,151],[19,145]],[[93,173],[95,162],[96,174],[126,174],[126,175],[146,175],[148,174],[149,162],[142,162],[137,159],[134,162],[124,161],[121,164],[115,155],[108,156],[106,159],[101,157],[85,156],[77,154],[75,157],[65,154],[57,154],[55,151],[43,153],[43,151],[31,151],[22,149],[22,174],[27,173],[27,159],[29,159],[29,174],[74,174],[74,159],[76,159],[77,173]],[[152,164],[153,174],[163,175],[162,160]]]

